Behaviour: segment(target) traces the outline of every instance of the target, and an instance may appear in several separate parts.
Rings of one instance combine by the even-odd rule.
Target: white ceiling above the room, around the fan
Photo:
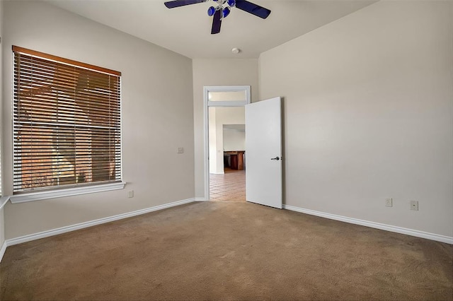
[[[237,8],[211,35],[214,3],[168,9],[166,0],[48,0],[51,4],[193,59],[258,58],[260,53],[342,18],[375,1],[251,0],[272,13],[263,20]],[[231,53],[238,47],[239,54]]]

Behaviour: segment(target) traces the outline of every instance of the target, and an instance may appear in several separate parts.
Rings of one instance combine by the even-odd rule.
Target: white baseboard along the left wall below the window
[[[182,201],[174,201],[172,203],[165,203],[164,205],[159,205],[159,206],[144,208],[144,209],[140,209],[140,210],[132,211],[132,212],[128,212],[128,213],[118,214],[117,216],[109,216],[108,218],[99,218],[98,220],[91,220],[88,222],[79,223],[79,224],[75,224],[75,225],[69,225],[69,226],[62,227],[62,228],[57,228],[57,229],[42,231],[42,232],[30,234],[30,235],[24,235],[21,237],[11,238],[9,240],[5,240],[3,246],[1,247],[0,261],[3,258],[3,254],[5,252],[6,247],[12,246],[14,244],[21,244],[23,242],[39,240],[40,238],[50,237],[53,235],[59,235],[59,234],[66,233],[66,232],[80,230],[83,228],[92,227],[93,225],[101,225],[103,223],[113,222],[114,220],[122,220],[123,218],[131,218],[132,216],[139,216],[144,213],[149,213],[149,212],[158,211],[158,210],[162,210],[162,209],[166,209],[166,208],[170,208],[170,207],[174,207],[174,206],[183,205],[184,203],[192,203],[193,201],[195,201],[194,198],[185,199]]]

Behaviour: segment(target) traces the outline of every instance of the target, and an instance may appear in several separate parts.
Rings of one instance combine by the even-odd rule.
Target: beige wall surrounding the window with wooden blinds
[[[8,203],[6,239],[190,199],[194,194],[192,61],[38,1],[4,2],[11,45],[122,72],[124,190]],[[4,56],[4,189],[11,194],[11,55]],[[184,148],[177,154],[178,146]],[[127,198],[127,191],[134,197]]]

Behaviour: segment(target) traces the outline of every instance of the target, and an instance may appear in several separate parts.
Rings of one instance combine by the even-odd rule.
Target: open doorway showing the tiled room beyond
[[[206,86],[205,196],[246,201],[245,112],[250,86]]]

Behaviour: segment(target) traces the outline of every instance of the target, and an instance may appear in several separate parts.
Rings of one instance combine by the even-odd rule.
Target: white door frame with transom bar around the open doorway
[[[209,154],[210,154],[210,141],[209,141],[209,107],[243,107],[251,103],[251,93],[250,85],[205,85],[203,87],[203,119],[204,119],[204,155],[205,155],[205,201],[210,200],[210,163],[209,163]],[[210,101],[209,93],[210,92],[237,92],[245,91],[246,100],[245,101]],[[246,129],[247,131],[247,129]]]

